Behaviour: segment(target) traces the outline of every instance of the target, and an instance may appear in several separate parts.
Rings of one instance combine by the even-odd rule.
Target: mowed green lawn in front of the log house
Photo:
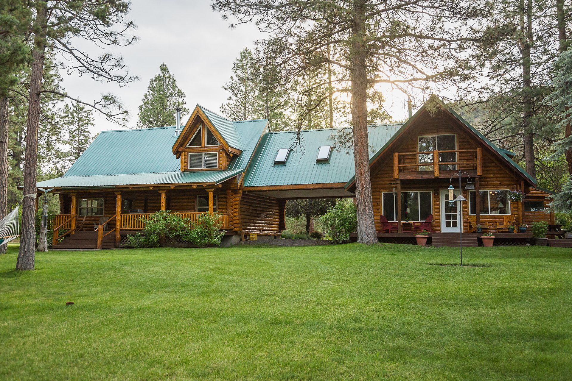
[[[383,244],[0,256],[0,378],[558,380],[572,250]],[[66,302],[74,302],[66,306]]]

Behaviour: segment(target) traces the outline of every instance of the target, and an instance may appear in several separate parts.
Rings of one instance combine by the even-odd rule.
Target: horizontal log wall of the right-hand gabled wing
[[[409,131],[406,131],[405,136],[401,139],[399,145],[396,145],[392,150],[384,154],[371,169],[371,182],[372,182],[372,198],[374,202],[374,216],[376,229],[381,229],[380,216],[382,215],[382,192],[393,191],[392,182],[396,181],[393,178],[393,153],[394,152],[414,152],[418,150],[418,137],[420,135],[434,135],[434,134],[456,134],[457,135],[457,149],[476,149],[476,147],[483,147],[483,175],[480,176],[480,190],[496,190],[496,189],[518,189],[521,183],[521,178],[515,175],[514,170],[510,167],[501,164],[494,154],[489,149],[481,145],[479,141],[473,139],[465,131],[449,123],[443,117],[429,118],[427,121],[419,123],[418,126],[412,126]],[[472,153],[459,153],[459,158],[470,159]],[[466,155],[467,157],[463,156]],[[412,163],[415,163],[413,161]],[[463,168],[463,170],[466,170]],[[473,179],[473,183],[475,179]],[[459,179],[455,176],[453,179],[453,186],[458,188]],[[463,196],[468,199],[467,191],[464,190],[466,179],[463,179]],[[435,231],[440,231],[440,190],[447,189],[449,186],[448,179],[425,179],[425,180],[402,180],[402,191],[432,191],[433,192],[433,223],[432,228]],[[395,186],[397,189],[397,186]],[[517,215],[519,211],[519,203],[511,203],[511,214]],[[468,202],[463,203],[463,225],[464,231],[468,229]],[[482,222],[502,223],[503,215],[480,215]],[[526,218],[526,216],[525,216]]]

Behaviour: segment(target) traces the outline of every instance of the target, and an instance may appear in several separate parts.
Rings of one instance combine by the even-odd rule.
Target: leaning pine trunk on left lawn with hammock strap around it
[[[34,50],[30,74],[30,99],[26,126],[26,155],[24,158],[24,198],[22,201],[22,229],[20,233],[20,252],[16,262],[17,270],[34,270],[35,260],[35,195],[36,170],[38,164],[38,127],[40,115],[40,96],[42,74],[46,49],[45,2],[38,2],[34,21]]]

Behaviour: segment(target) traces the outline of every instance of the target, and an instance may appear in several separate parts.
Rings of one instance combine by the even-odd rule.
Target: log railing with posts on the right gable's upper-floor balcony
[[[459,159],[461,155],[457,155],[457,160],[454,162],[439,161],[439,154],[456,153],[466,154],[468,158]],[[472,155],[471,155],[472,154]],[[420,162],[420,155],[433,155],[433,161]],[[394,153],[393,172],[394,178],[398,179],[399,174],[404,170],[410,169],[411,172],[420,171],[419,167],[433,166],[433,176],[439,177],[439,166],[454,165],[458,169],[469,170],[476,169],[476,175],[480,176],[483,173],[483,150],[478,147],[470,150],[435,150],[427,152],[396,152]],[[471,168],[470,168],[471,167]]]

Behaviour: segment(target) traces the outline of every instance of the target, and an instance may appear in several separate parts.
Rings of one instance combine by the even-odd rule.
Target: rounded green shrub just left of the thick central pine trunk
[[[341,243],[349,239],[349,234],[358,228],[356,206],[351,199],[339,199],[321,217],[324,227],[333,242]]]

